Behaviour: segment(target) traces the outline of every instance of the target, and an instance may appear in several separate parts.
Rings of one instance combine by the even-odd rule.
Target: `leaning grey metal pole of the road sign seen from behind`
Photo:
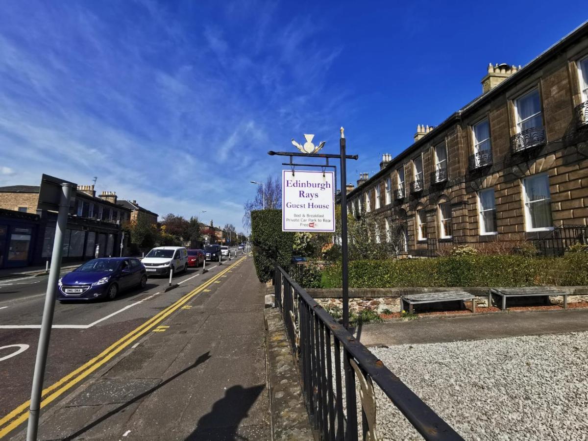
[[[31,389],[31,405],[29,406],[29,422],[26,430],[26,440],[35,441],[39,427],[39,412],[41,410],[41,391],[45,377],[45,366],[47,363],[47,352],[49,349],[49,337],[53,324],[53,313],[55,310],[55,290],[61,270],[61,255],[64,243],[64,233],[68,223],[69,198],[71,198],[72,185],[61,184],[61,201],[57,215],[55,239],[53,241],[53,253],[51,255],[51,269],[49,269],[49,280],[47,281],[47,293],[45,296],[45,307],[41,321],[41,333],[35,360],[35,373],[33,375],[33,386]]]

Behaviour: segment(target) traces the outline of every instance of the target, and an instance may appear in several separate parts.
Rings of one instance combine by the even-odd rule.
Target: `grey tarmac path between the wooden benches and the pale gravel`
[[[354,330],[366,346],[485,340],[588,330],[588,309],[430,318],[363,325]]]

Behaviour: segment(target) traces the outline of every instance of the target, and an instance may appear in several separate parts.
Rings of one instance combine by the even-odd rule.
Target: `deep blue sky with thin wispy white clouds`
[[[398,2],[399,3],[399,2]],[[404,3],[404,2],[403,2]],[[270,149],[315,133],[348,182],[582,24],[584,1],[0,4],[0,185],[41,173],[241,226]]]

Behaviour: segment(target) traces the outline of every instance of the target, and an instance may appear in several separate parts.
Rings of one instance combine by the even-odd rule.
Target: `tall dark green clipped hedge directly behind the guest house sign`
[[[274,264],[287,268],[292,259],[294,233],[282,232],[282,210],[251,212],[253,262],[260,282],[273,278]]]

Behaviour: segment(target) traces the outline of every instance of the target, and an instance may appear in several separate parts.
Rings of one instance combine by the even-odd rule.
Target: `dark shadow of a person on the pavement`
[[[239,435],[240,422],[249,415],[249,409],[265,389],[265,385],[229,387],[225,396],[212,406],[211,412],[198,420],[196,430],[188,436],[188,440],[246,440],[244,434]]]

